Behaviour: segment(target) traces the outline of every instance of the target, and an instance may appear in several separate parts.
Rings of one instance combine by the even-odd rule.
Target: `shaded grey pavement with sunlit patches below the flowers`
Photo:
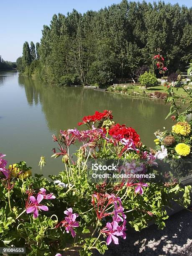
[[[169,217],[165,223],[163,230],[158,230],[157,225],[141,232],[127,230],[126,240],[119,239],[119,245],[111,244],[104,256],[192,255],[192,212],[182,210]],[[182,254],[183,248],[187,246],[190,246],[190,252]],[[98,255],[94,253],[94,256]]]

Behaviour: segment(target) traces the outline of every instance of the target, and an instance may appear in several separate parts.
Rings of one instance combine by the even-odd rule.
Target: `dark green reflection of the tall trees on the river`
[[[79,87],[55,87],[28,77],[19,77],[25,87],[28,103],[41,103],[47,125],[51,132],[77,127],[84,115],[92,115],[95,110],[113,110],[115,120],[132,126],[143,136],[162,128],[169,106],[163,101],[133,99],[132,97],[100,92]],[[147,133],[147,134],[146,134]]]

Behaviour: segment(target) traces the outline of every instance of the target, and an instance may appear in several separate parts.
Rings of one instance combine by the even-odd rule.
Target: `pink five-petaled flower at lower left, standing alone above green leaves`
[[[26,212],[33,212],[33,218],[36,219],[38,217],[38,210],[48,211],[49,208],[45,205],[40,205],[39,203],[44,199],[44,196],[41,194],[37,195],[37,199],[33,196],[29,197],[31,204],[27,207]]]

